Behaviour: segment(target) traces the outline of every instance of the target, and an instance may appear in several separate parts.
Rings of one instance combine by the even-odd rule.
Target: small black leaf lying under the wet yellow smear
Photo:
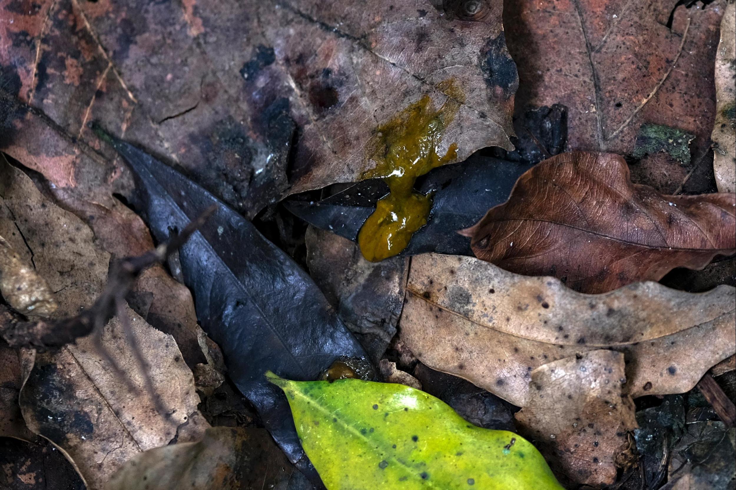
[[[434,192],[427,224],[411,237],[400,256],[439,252],[473,255],[470,239],[457,230],[470,227],[487,210],[509,198],[514,183],[531,165],[473,155],[462,163],[435,168],[417,180],[421,193]],[[358,182],[321,201],[287,200],[286,208],[309,224],[352,241],[375,210],[375,202],[388,193],[378,179]]]

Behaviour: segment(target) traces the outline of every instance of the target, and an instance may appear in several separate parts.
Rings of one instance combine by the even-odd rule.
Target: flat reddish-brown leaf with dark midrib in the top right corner
[[[503,18],[519,69],[517,110],[568,107],[571,150],[631,154],[641,124],[696,135],[693,165],[709,153],[713,62],[724,0],[514,0]],[[513,33],[513,35],[512,35]],[[676,185],[686,173],[672,162]],[[688,168],[690,170],[690,168]]]

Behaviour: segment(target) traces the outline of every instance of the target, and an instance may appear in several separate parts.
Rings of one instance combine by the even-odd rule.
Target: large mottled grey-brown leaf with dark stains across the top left
[[[250,216],[284,193],[357,180],[372,166],[364,146],[374,129],[425,93],[439,107],[446,96],[437,85],[447,79],[464,103],[442,144],[458,143],[459,160],[511,148],[517,74],[501,0],[444,8],[4,0],[1,8],[13,19],[0,26],[8,91],[97,148],[85,123],[101,121]],[[49,180],[74,185],[74,158],[18,149],[22,121],[8,126],[3,149],[26,165],[33,155]]]

